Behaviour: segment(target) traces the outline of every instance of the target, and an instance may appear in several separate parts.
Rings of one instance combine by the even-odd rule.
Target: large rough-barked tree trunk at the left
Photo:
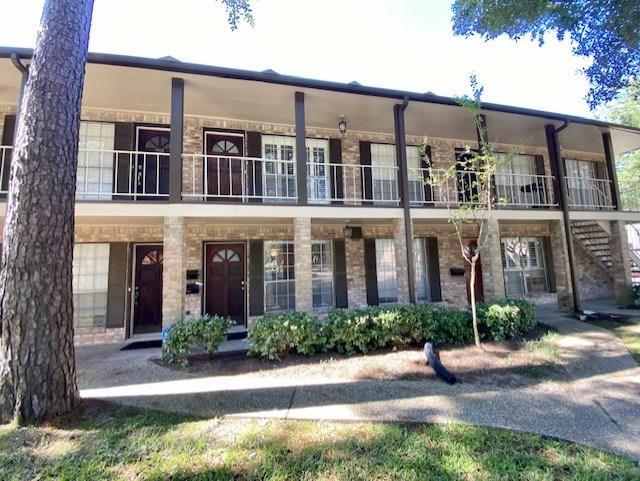
[[[72,261],[93,0],[47,0],[18,113],[0,273],[0,421],[74,408]]]

